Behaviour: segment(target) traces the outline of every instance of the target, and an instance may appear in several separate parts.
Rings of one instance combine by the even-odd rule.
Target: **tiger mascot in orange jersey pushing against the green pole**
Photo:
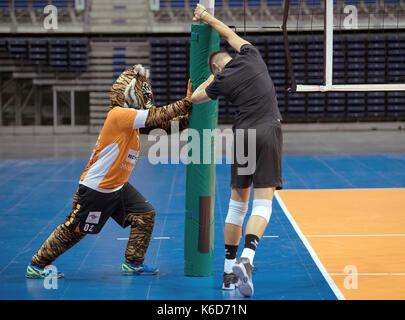
[[[32,257],[27,278],[49,276],[52,268],[46,266],[87,234],[100,232],[110,217],[123,228],[131,227],[122,274],[159,273],[157,268],[143,263],[153,231],[155,210],[128,179],[139,155],[139,129],[170,131],[174,121],[178,121],[180,130],[186,128],[191,94],[189,82],[184,99],[156,107],[148,70],[135,65],[120,75],[111,88],[111,110],[80,177],[71,212]]]

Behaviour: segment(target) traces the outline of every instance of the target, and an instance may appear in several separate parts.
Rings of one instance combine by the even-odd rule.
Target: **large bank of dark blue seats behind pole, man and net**
[[[267,63],[286,120],[405,116],[405,92],[289,93],[282,36],[248,40]],[[322,84],[322,35],[294,36],[289,42],[297,83]],[[337,35],[334,46],[335,84],[405,83],[405,34]],[[229,49],[224,42],[221,47]],[[189,40],[154,39],[150,48],[155,102],[163,105],[181,99],[189,74]],[[237,110],[224,99],[219,106],[220,121],[231,122]]]

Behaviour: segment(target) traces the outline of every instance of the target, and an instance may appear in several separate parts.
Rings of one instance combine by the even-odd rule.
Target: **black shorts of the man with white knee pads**
[[[256,137],[249,140],[249,131],[255,130]],[[236,130],[243,130],[243,136]],[[231,165],[232,189],[283,188],[281,161],[283,135],[280,123],[263,123],[249,129],[234,130],[233,161]],[[252,140],[253,139],[253,140]],[[252,145],[256,145],[256,152]],[[243,147],[242,147],[243,146]],[[249,146],[251,147],[250,154]],[[242,149],[242,151],[241,151]],[[239,150],[239,151],[238,151]],[[237,156],[237,153],[243,157]],[[242,161],[241,161],[242,160]],[[246,161],[247,160],[247,161]]]

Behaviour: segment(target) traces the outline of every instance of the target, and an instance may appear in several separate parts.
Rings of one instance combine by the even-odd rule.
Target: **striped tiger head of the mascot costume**
[[[149,70],[137,64],[125,70],[115,81],[110,92],[111,108],[149,109],[153,106]]]

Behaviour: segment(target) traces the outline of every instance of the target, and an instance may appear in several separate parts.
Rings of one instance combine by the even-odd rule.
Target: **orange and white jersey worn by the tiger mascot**
[[[113,192],[126,183],[139,154],[139,128],[148,111],[116,107],[107,116],[80,183]]]

